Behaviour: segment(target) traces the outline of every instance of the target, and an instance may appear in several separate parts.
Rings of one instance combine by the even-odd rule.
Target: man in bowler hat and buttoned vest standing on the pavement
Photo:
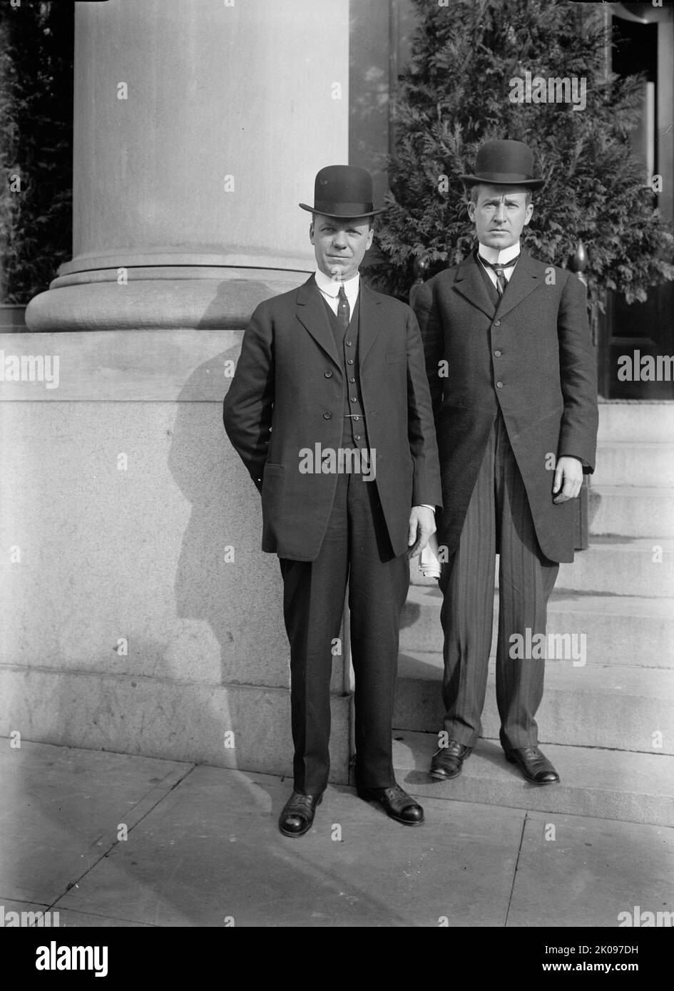
[[[309,228],[317,271],[256,309],[224,403],[227,434],[262,493],[264,551],[281,562],[290,642],[294,790],[279,826],[312,825],[329,771],[332,646],[347,580],[356,678],[356,784],[407,826],[395,783],[393,690],[408,555],[435,530],[437,445],[414,314],[365,286],[372,178],[329,165]]]

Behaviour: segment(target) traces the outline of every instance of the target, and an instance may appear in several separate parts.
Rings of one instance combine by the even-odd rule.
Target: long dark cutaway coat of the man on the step
[[[522,251],[495,312],[479,267],[472,254],[414,298],[440,450],[438,541],[456,549],[501,409],[541,549],[552,561],[573,561],[576,503],[554,504],[549,466],[573,455],[594,471],[597,374],[586,288]]]

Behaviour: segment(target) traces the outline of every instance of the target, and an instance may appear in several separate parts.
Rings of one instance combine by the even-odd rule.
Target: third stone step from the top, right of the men
[[[674,537],[674,489],[593,485],[589,514],[592,536]]]

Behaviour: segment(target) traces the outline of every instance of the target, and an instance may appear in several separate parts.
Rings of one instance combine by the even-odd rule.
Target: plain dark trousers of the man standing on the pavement
[[[315,561],[281,558],[283,614],[290,642],[294,788],[318,795],[327,785],[332,645],[339,636],[347,580],[355,674],[356,781],[394,783],[392,720],[400,610],[409,564],[394,557],[376,482],[340,475]]]

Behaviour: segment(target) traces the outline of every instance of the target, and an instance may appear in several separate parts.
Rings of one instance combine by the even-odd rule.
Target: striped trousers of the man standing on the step
[[[550,478],[552,489],[552,478]],[[551,496],[552,497],[552,496]],[[497,704],[506,749],[535,746],[543,697],[543,660],[509,656],[510,636],[545,633],[547,602],[559,565],[541,552],[506,424],[497,418],[468,506],[456,553],[443,566],[444,728],[474,746],[482,732],[499,565]]]

